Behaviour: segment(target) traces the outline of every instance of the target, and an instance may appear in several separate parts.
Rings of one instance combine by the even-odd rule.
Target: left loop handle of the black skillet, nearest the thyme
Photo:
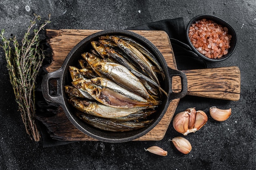
[[[63,104],[63,99],[61,95],[61,74],[63,73],[63,69],[60,68],[57,71],[47,73],[42,80],[42,93],[43,97],[48,102],[54,102],[57,104]],[[57,81],[57,94],[56,95],[50,95],[49,94],[49,81],[52,79],[56,79]]]

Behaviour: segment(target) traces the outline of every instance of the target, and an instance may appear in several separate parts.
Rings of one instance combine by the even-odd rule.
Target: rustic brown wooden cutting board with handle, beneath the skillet
[[[48,72],[58,70],[70,50],[88,35],[100,30],[46,30],[47,41],[52,48],[52,63],[46,68]],[[164,31],[134,31],[152,42],[164,56],[170,68],[177,69],[173,49],[168,35]],[[211,97],[217,99],[239,100],[240,98],[240,70],[238,67],[208,68],[184,71],[188,79],[188,95]],[[179,77],[173,77],[173,91],[181,89]],[[174,99],[162,120],[146,135],[135,141],[161,140],[175,113],[180,99]],[[67,141],[97,140],[85,135],[67,119],[62,108],[52,117],[38,116],[37,119],[47,127],[53,139]]]

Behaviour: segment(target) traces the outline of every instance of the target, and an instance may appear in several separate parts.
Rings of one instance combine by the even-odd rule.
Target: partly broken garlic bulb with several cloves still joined
[[[187,135],[202,128],[207,121],[208,117],[204,111],[187,108],[185,111],[175,115],[173,118],[173,127],[177,132]]]

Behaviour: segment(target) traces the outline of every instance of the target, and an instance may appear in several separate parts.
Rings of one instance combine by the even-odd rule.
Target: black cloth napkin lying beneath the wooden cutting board
[[[141,24],[139,26],[130,27],[127,30],[165,31],[170,38],[170,41],[173,47],[173,52],[175,55],[177,68],[179,70],[206,68],[206,63],[204,62],[204,60],[198,57],[198,55],[195,54],[187,45],[183,18],[174,18],[169,20],[160,20],[157,22],[150,22],[146,24]],[[40,112],[38,113],[38,115],[43,115],[43,114],[50,115],[51,112],[54,114],[54,106],[46,105],[46,102],[44,101],[43,96],[41,95],[40,88],[38,88],[37,92],[38,92],[37,96],[40,98],[38,99],[38,106],[37,106]],[[196,101],[198,102],[195,103],[195,99],[193,97],[192,98],[184,97],[184,99],[180,100],[177,110],[194,107],[198,103],[202,105],[207,103],[207,100],[205,100],[204,98],[200,99],[200,97],[196,98]],[[43,147],[58,146],[58,145],[69,144],[74,142],[74,141],[58,141],[58,140],[52,139],[47,133],[46,127],[40,122],[39,122],[39,130],[41,134],[41,140],[43,142]]]

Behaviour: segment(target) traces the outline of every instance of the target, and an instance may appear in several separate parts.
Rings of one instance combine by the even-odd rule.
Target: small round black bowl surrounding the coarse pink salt
[[[207,19],[207,20],[212,20],[214,22],[216,22],[217,24],[220,24],[222,25],[223,27],[227,27],[228,29],[228,33],[229,35],[232,36],[231,38],[231,41],[230,41],[230,48],[228,49],[228,53],[226,55],[222,55],[222,57],[220,58],[208,58],[206,57],[205,55],[201,54],[194,46],[193,44],[191,43],[190,39],[189,39],[189,28],[190,26],[192,26],[192,24],[194,24],[196,21],[198,20],[202,20],[202,19]],[[194,17],[193,19],[191,19],[186,27],[186,39],[189,43],[189,46],[191,46],[191,49],[193,49],[193,51],[195,51],[195,53],[197,53],[200,57],[202,57],[203,59],[205,60],[208,60],[208,61],[212,61],[212,62],[220,62],[220,61],[223,61],[223,60],[226,60],[227,58],[229,58],[234,50],[236,49],[236,43],[237,43],[237,36],[236,36],[236,31],[234,30],[234,28],[229,24],[227,23],[226,21],[222,20],[221,18],[218,18],[214,15],[207,15],[207,14],[202,14],[202,15],[198,15],[196,17]]]

